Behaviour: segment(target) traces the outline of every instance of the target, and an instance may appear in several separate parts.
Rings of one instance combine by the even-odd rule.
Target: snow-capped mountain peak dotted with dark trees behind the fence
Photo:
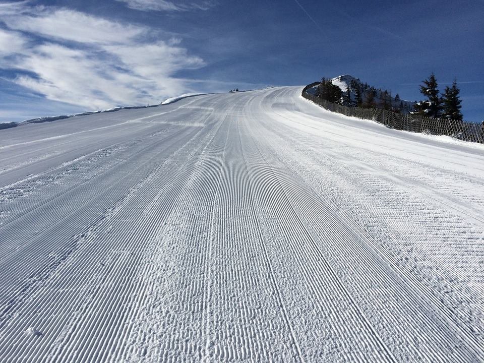
[[[370,86],[368,83],[363,83],[359,78],[351,75],[341,75],[332,78],[331,83],[338,86],[343,92],[346,92],[346,90],[349,89],[351,100],[355,100],[355,91],[359,88],[361,99],[364,104],[369,102],[371,98],[370,94],[373,92],[373,102],[378,108],[391,108],[402,113],[409,113],[414,109],[415,102],[403,100],[398,93],[392,94],[391,91]],[[306,92],[315,94],[317,87],[318,86],[314,86]]]

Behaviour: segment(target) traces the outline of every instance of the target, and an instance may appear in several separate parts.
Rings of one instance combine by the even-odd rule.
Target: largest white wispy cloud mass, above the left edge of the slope
[[[179,39],[160,39],[156,29],[66,8],[4,3],[0,21],[0,68],[11,81],[89,109],[185,93],[189,81],[176,73],[204,66]]]

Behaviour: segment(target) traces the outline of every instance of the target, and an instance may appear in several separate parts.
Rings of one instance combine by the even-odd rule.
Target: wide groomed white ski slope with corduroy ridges
[[[0,131],[0,361],[484,361],[484,148],[300,91]]]

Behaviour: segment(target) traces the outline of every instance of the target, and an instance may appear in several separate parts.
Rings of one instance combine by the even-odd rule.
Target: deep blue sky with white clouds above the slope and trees
[[[0,1],[0,121],[351,74],[484,119],[484,2]]]

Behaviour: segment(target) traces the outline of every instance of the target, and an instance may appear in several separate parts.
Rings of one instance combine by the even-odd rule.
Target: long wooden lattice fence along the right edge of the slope
[[[484,123],[480,125],[447,118],[431,118],[419,114],[403,114],[382,108],[347,107],[318,98],[306,92],[302,92],[302,97],[313,101],[329,111],[342,113],[346,116],[374,120],[391,129],[431,135],[447,135],[459,140],[484,143]]]

